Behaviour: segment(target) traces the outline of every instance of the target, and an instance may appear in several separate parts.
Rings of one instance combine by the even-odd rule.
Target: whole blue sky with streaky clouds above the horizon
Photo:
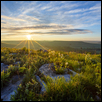
[[[101,1],[1,1],[1,41],[101,41]]]

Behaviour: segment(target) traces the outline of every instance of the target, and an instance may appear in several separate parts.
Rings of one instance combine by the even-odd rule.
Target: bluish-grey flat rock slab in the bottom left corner
[[[3,99],[3,101],[10,101],[11,95],[15,94],[14,90],[17,90],[23,78],[24,76],[15,75],[12,77],[9,84],[1,89],[1,99]],[[15,82],[13,82],[14,80]]]

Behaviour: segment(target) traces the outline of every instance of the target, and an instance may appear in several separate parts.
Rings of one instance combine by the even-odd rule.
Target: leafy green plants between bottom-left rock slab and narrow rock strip
[[[12,101],[30,101],[36,100],[35,95],[40,92],[40,84],[35,78],[29,80],[25,85],[20,84],[15,95],[11,96]]]

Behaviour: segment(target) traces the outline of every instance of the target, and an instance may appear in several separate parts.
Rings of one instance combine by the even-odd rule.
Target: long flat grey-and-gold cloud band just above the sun
[[[2,33],[7,33],[7,35],[25,35],[25,34],[47,34],[47,35],[70,35],[70,34],[87,34],[92,33],[92,31],[87,29],[72,29],[72,25],[35,25],[30,27],[12,27],[12,28],[2,28]],[[10,33],[12,32],[12,33]]]

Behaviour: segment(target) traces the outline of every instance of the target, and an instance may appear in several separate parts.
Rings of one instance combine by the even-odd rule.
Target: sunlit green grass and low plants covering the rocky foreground
[[[12,52],[17,54],[9,55]],[[1,86],[4,87],[13,75],[25,76],[17,93],[12,95],[12,101],[97,101],[96,95],[101,98],[101,54],[32,50],[29,57],[27,53],[27,48],[1,48],[1,61],[9,64],[8,70],[1,72]],[[21,63],[13,65],[15,61]],[[69,82],[63,77],[52,80],[39,72],[39,68],[48,63],[55,63],[56,72],[60,74],[66,68],[76,72],[80,68],[81,71]],[[47,91],[43,94],[39,94],[41,86],[35,75],[47,84]]]

